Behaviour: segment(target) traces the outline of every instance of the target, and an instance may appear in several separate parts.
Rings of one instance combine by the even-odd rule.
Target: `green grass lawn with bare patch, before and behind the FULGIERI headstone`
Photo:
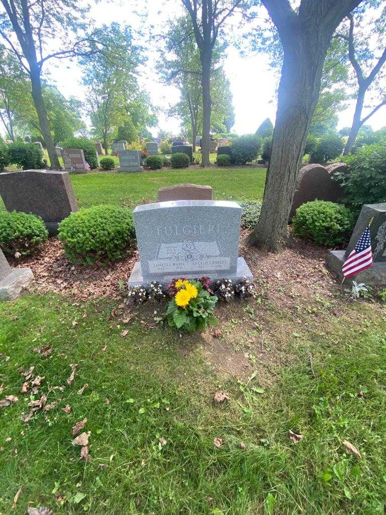
[[[185,181],[212,185],[216,198],[258,199],[264,174],[166,170],[72,181],[86,207],[135,205]],[[156,303],[128,312],[121,301],[48,291],[0,303],[0,399],[19,398],[0,407],[0,515],[24,515],[27,506],[55,515],[384,513],[384,305],[350,300],[301,249],[292,255],[303,289],[249,252],[257,295],[219,305],[219,338],[161,327]],[[49,355],[34,351],[48,344]],[[31,366],[44,379],[22,393]],[[213,402],[218,389],[229,402]],[[28,403],[43,394],[50,409],[25,423]],[[72,435],[84,418],[88,461]],[[290,430],[304,435],[299,443]]]

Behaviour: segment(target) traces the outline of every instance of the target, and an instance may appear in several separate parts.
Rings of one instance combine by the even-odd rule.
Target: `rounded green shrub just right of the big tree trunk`
[[[342,204],[313,200],[297,208],[292,234],[311,238],[318,245],[335,247],[344,242],[353,225],[351,211]]]

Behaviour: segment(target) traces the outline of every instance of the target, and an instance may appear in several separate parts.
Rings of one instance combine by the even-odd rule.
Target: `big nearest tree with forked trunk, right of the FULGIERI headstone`
[[[277,252],[287,224],[311,118],[318,103],[323,63],[332,35],[360,0],[262,0],[280,35],[284,57],[272,153],[261,215],[247,243]]]

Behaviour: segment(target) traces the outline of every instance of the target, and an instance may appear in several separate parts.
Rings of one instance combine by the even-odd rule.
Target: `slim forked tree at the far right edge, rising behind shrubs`
[[[375,12],[365,9],[374,5],[378,7]],[[346,43],[356,80],[355,112],[344,155],[352,151],[362,125],[386,105],[385,27],[386,2],[367,0],[361,9],[347,15],[347,23],[344,22],[337,32],[337,38]],[[363,116],[364,107],[367,113]]]

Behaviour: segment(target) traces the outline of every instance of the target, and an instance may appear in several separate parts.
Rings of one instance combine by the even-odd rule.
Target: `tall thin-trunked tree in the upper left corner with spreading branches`
[[[76,0],[0,0],[0,36],[31,81],[31,94],[51,168],[60,168],[42,92],[42,71],[50,59],[85,52],[89,6]],[[78,37],[80,31],[82,37]],[[48,50],[49,49],[49,50]]]

